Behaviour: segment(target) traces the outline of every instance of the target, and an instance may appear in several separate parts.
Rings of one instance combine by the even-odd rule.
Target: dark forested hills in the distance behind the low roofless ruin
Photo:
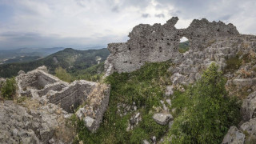
[[[21,52],[22,54],[27,54],[28,52],[31,52],[30,54],[50,54],[56,50],[61,51],[50,54],[46,58],[40,58],[32,62],[14,62],[2,64],[0,65],[0,77],[10,78],[16,76],[19,70],[24,70],[25,72],[27,72],[36,69],[38,66],[47,66],[51,74],[54,74],[54,70],[58,66],[61,66],[70,73],[75,73],[78,70],[86,70],[90,66],[94,66],[101,62],[104,62],[110,54],[110,52],[106,48],[99,50],[74,50],[71,48],[66,48],[64,50],[62,49],[63,48],[53,48],[49,50],[38,51],[21,49],[17,51],[18,54],[21,54]],[[30,55],[30,57],[32,56]]]

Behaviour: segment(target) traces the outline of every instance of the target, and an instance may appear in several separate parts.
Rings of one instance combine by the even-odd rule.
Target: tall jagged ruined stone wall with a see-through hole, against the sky
[[[179,61],[183,57],[183,54],[178,52],[182,37],[189,39],[190,50],[202,51],[220,37],[239,34],[232,24],[208,22],[205,18],[194,20],[186,29],[176,29],[174,25],[177,22],[178,18],[174,17],[164,25],[140,24],[130,32],[127,42],[110,43],[106,71],[131,72],[138,70],[145,62],[164,62],[170,59]]]

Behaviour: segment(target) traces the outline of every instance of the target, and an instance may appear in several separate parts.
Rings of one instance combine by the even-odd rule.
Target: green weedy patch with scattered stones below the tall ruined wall
[[[166,85],[170,85],[170,62],[148,63],[140,70],[132,73],[114,73],[106,78],[111,84],[110,103],[103,122],[96,133],[89,130],[75,116],[72,118],[78,133],[75,143],[141,143],[143,139],[153,136],[161,138],[166,134],[168,126],[154,122],[154,107],[160,106]],[[118,114],[118,104],[138,106],[137,111],[127,112],[122,117]],[[122,111],[122,108],[120,108]],[[142,122],[134,130],[126,130],[130,118],[134,114],[142,115]]]

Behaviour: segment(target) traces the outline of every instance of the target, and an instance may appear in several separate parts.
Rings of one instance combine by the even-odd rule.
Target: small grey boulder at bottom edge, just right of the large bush
[[[225,135],[222,144],[243,144],[245,141],[245,134],[238,130],[236,126],[231,126],[230,130]]]

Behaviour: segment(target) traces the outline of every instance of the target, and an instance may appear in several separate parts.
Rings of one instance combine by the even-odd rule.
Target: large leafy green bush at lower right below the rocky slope
[[[221,143],[230,126],[238,124],[240,104],[227,96],[225,83],[218,66],[212,64],[183,93],[181,101],[186,105],[174,119],[170,130],[170,135],[174,135],[172,143]]]

